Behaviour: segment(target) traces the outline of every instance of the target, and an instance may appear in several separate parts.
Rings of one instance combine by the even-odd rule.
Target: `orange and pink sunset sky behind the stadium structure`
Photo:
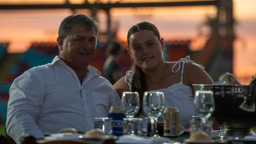
[[[0,0],[0,4],[14,2],[52,2],[52,0]],[[70,3],[80,3],[84,0],[70,0]],[[107,2],[109,0],[100,0]],[[112,0],[117,2],[118,0]],[[132,2],[138,0],[122,0]],[[150,0],[147,0],[149,2]],[[155,1],[156,0],[152,0]],[[161,0],[163,1],[163,0]],[[55,0],[63,3],[65,0]],[[88,0],[93,3],[95,0]],[[256,74],[256,0],[233,0],[235,32],[234,42],[234,74],[243,84],[248,80],[244,76]],[[90,14],[89,10],[77,10],[76,13]],[[10,53],[24,52],[30,42],[56,41],[61,20],[72,14],[69,9],[45,10],[0,10],[0,42],[10,42]],[[202,26],[206,16],[215,16],[214,6],[200,7],[156,7],[156,8],[114,8],[110,11],[113,27],[119,25],[118,36],[126,40],[128,29],[142,21],[154,23],[165,40],[191,39],[195,42],[204,40],[199,35],[198,28]],[[106,13],[98,12],[101,30],[106,30]],[[205,30],[204,30],[205,31]]]

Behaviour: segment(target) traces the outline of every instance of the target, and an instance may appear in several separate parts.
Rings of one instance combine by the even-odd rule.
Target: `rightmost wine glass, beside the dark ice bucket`
[[[203,124],[206,124],[215,109],[213,92],[211,90],[197,90],[195,92],[194,104],[199,113],[200,120]]]

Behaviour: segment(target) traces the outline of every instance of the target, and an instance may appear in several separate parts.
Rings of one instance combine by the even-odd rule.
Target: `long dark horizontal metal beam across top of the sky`
[[[149,2],[149,3],[95,3],[95,4],[0,4],[3,9],[110,9],[113,7],[171,7],[171,6],[208,6],[217,5],[219,0],[187,1],[187,2]]]

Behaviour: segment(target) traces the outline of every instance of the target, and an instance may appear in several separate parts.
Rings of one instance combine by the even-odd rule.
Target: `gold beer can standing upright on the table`
[[[165,108],[163,117],[163,136],[178,137],[179,111],[177,107]]]

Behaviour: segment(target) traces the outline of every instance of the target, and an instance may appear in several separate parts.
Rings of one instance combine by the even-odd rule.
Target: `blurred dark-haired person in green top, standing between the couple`
[[[123,53],[124,48],[121,42],[118,41],[111,42],[106,50],[108,57],[103,66],[103,76],[108,79],[112,85],[124,76],[119,63],[119,59]]]

